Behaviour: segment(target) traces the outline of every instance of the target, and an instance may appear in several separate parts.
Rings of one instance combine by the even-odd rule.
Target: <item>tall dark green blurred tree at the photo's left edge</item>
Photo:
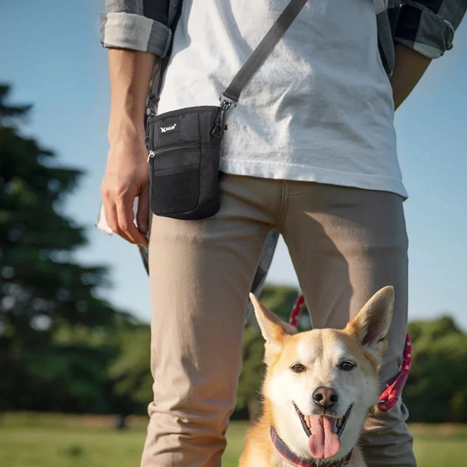
[[[73,261],[85,233],[62,209],[81,171],[21,133],[30,107],[8,93],[0,85],[0,409],[107,411],[116,347],[91,340],[116,312],[96,295],[106,269]]]

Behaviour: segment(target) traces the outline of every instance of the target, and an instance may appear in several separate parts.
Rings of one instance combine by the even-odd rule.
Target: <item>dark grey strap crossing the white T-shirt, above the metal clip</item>
[[[239,72],[233,77],[232,82],[223,93],[224,97],[238,102],[243,88],[274,50],[277,42],[285,34],[285,31],[289,29],[306,2],[307,0],[290,0],[279,18],[277,18],[268,33],[263,37],[258,47],[256,47]]]

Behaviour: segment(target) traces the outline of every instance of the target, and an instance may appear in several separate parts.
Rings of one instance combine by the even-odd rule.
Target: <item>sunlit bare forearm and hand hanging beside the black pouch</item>
[[[149,172],[144,113],[155,56],[134,50],[109,50],[110,150],[101,185],[108,226],[131,243],[148,245]],[[133,203],[138,197],[134,225]]]

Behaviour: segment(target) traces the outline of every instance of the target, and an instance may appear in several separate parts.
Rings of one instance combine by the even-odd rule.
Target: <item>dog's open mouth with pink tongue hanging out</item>
[[[353,404],[350,404],[343,417],[304,415],[296,403],[293,405],[308,437],[308,447],[311,455],[316,459],[328,459],[335,456],[339,451],[340,436],[347,425]]]

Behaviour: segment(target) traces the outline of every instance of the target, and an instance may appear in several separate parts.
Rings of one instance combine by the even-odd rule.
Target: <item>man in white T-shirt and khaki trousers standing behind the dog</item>
[[[102,194],[114,232],[148,244],[143,115],[160,57],[172,44],[158,113],[219,105],[287,3],[184,0],[175,27],[178,0],[106,2],[112,106]],[[271,230],[288,245],[314,327],[344,327],[376,290],[395,287],[382,388],[392,381],[407,326],[407,194],[393,113],[452,47],[465,10],[466,0],[309,1],[229,111],[219,212],[152,218],[155,382],[142,467],[220,465],[248,291]],[[368,466],[416,465],[407,416],[399,401],[368,417]]]

